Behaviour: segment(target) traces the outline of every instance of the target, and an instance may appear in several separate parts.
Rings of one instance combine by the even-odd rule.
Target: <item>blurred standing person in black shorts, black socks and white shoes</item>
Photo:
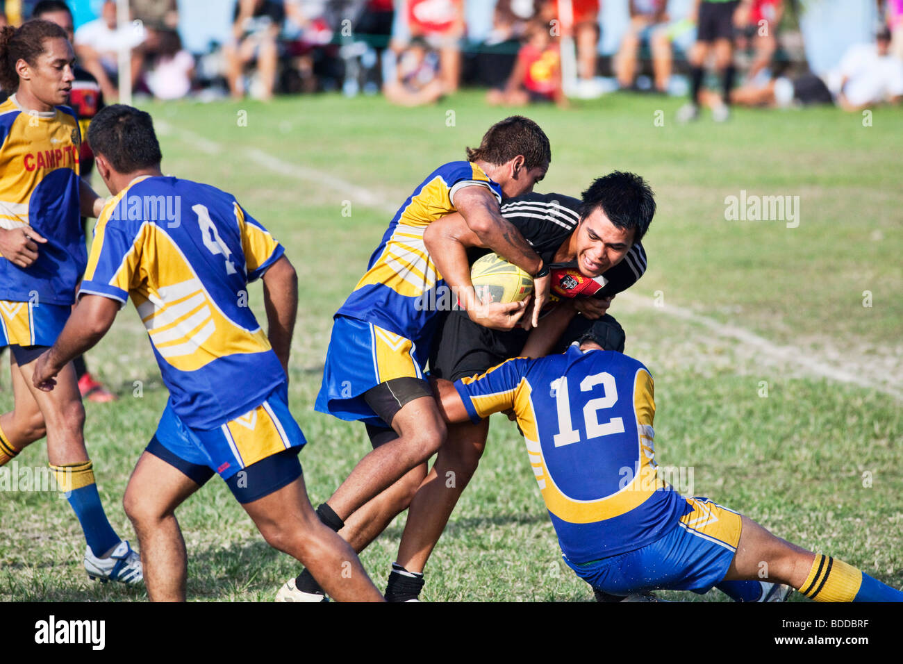
[[[714,53],[715,69],[721,72],[721,103],[712,108],[716,122],[724,122],[731,117],[728,104],[736,74],[733,66],[733,16],[740,0],[696,0],[693,16],[696,22],[696,43],[690,49],[691,84],[690,102],[677,111],[680,122],[689,122],[699,117],[700,90],[703,89],[705,62]]]

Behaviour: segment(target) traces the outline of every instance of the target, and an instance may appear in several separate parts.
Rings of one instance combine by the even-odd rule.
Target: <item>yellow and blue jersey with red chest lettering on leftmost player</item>
[[[0,300],[75,301],[87,258],[79,219],[79,145],[79,123],[70,108],[26,111],[15,95],[0,104],[0,228],[31,226],[47,238],[29,267],[0,257]]]

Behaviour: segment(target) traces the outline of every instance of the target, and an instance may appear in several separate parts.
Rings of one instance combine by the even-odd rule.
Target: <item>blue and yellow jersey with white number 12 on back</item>
[[[685,509],[656,472],[652,377],[638,360],[572,346],[507,360],[455,383],[473,421],[513,408],[564,556],[576,564],[643,547]]]

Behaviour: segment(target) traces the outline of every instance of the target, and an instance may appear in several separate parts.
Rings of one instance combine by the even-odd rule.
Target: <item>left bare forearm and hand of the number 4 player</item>
[[[56,385],[53,377],[70,361],[103,339],[116,320],[118,311],[119,303],[109,297],[102,295],[82,297],[56,343],[35,360],[32,378],[34,387],[50,392]]]

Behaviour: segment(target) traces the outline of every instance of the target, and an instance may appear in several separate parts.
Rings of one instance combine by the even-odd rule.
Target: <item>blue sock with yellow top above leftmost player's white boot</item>
[[[86,461],[55,466],[51,463],[51,471],[79,518],[91,552],[98,557],[105,556],[119,544],[120,539],[100,504],[98,485],[94,482],[94,464]]]

